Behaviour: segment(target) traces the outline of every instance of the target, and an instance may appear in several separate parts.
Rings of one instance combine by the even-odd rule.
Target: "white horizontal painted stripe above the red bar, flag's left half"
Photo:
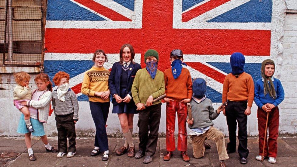
[[[130,29],[142,28],[141,20],[125,21],[75,21],[47,20],[45,28],[75,28],[75,29]]]

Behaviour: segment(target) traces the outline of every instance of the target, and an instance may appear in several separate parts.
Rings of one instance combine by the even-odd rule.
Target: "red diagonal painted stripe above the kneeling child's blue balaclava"
[[[214,80],[224,83],[226,75],[208,67],[207,65],[204,65],[200,62],[185,62],[188,66],[194,68],[195,70],[201,72],[204,75],[207,75],[210,78],[213,78]]]

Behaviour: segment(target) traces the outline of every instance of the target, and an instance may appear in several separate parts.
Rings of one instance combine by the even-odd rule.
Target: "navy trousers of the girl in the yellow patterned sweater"
[[[100,148],[100,152],[108,150],[108,140],[106,133],[106,121],[108,117],[110,102],[91,102],[91,114],[96,127],[95,146]]]

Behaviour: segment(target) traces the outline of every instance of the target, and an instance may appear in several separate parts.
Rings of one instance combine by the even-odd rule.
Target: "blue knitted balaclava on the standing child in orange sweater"
[[[244,67],[244,63],[245,63],[246,59],[244,58],[242,53],[239,52],[235,52],[233,54],[231,54],[230,57],[230,65],[232,68],[232,74],[236,75],[236,74],[241,74],[243,73],[243,67]]]

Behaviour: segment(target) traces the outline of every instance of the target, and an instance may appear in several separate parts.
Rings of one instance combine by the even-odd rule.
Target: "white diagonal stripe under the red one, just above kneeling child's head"
[[[207,75],[202,74],[201,72],[195,70],[194,68],[191,68],[190,66],[187,66],[185,68],[187,68],[190,71],[192,78],[203,78],[205,79],[207,86],[211,87],[212,89],[215,89],[219,93],[223,92],[223,84],[221,84],[220,82],[208,77]]]

